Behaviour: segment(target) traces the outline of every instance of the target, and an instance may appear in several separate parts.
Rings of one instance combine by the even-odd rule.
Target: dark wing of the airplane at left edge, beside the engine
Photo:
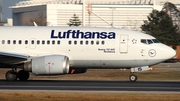
[[[16,64],[26,61],[30,58],[28,55],[0,52],[0,64]]]

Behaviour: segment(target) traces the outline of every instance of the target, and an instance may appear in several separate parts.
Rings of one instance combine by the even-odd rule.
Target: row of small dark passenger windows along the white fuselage
[[[7,40],[7,41],[5,41],[5,40],[2,40],[2,44],[23,44],[23,42],[24,42],[24,44],[28,44],[29,43],[29,41],[28,40],[25,40],[25,41],[22,41],[22,40]],[[40,40],[37,40],[37,41],[35,41],[35,40],[31,40],[30,41],[30,44],[37,44],[37,45],[39,45],[39,44],[53,44],[53,45],[55,45],[55,44],[60,44],[60,40],[58,40],[58,41],[55,41],[55,40],[52,40],[52,41],[50,41],[50,40],[47,40],[47,41],[45,41],[45,40],[42,40],[42,41],[40,41]],[[91,44],[91,45],[94,45],[94,44],[96,44],[96,45],[99,45],[99,44],[102,44],[102,45],[104,45],[105,44],[105,41],[68,41],[68,44],[69,45],[72,45],[72,44],[74,44],[74,45],[77,45],[77,44],[80,44],[80,45],[83,45],[83,44],[86,44],[86,45],[88,45],[88,44]]]

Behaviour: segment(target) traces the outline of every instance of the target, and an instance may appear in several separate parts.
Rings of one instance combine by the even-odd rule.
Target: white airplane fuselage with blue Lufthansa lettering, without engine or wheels
[[[170,59],[175,52],[141,32],[89,27],[0,27],[0,52],[69,57],[74,68],[129,68]],[[93,34],[96,33],[96,34]],[[148,42],[148,41],[147,41]]]

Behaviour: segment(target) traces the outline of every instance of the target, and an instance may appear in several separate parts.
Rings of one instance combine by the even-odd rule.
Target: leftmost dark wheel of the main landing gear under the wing
[[[6,80],[8,80],[8,81],[17,80],[17,73],[12,70],[7,71],[6,72]]]

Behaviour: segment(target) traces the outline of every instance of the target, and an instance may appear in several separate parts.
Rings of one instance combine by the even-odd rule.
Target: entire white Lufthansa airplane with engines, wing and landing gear
[[[129,80],[135,82],[135,72],[176,54],[155,37],[128,29],[3,26],[0,31],[0,68],[11,68],[8,81],[26,81],[29,73],[79,74],[98,68],[131,69]]]

